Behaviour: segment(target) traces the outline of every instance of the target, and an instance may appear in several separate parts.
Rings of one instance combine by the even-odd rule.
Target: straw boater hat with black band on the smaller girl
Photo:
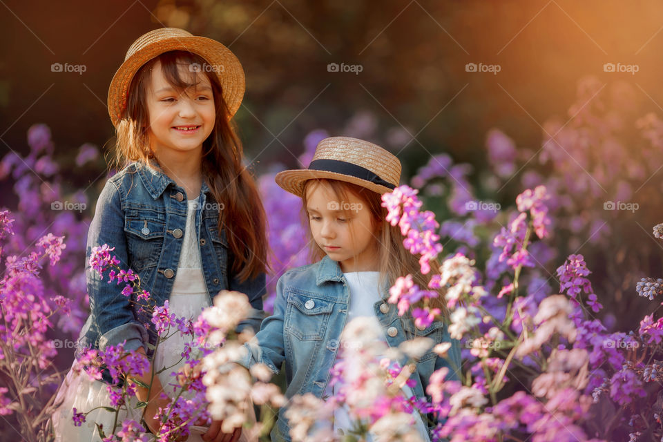
[[[308,169],[282,171],[276,184],[302,196],[307,180],[327,178],[358,184],[377,193],[391,192],[401,179],[401,162],[376,144],[349,137],[325,138],[318,143]]]

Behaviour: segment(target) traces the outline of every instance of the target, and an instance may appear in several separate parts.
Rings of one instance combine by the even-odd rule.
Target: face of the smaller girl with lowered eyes
[[[366,204],[351,192],[348,201],[338,201],[327,182],[307,186],[307,207],[311,235],[340,269],[378,270],[376,223]]]

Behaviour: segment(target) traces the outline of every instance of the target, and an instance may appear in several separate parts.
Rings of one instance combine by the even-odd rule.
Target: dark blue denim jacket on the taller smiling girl
[[[203,182],[195,231],[209,301],[222,289],[247,294],[253,310],[238,329],[258,330],[266,291],[265,273],[244,282],[231,273],[233,254],[225,229],[218,229],[220,204],[212,204],[211,196]],[[151,294],[156,305],[164,305],[171,295],[182,251],[186,200],[184,189],[154,164],[134,162],[106,182],[88,231],[85,273],[90,316],[79,336],[77,357],[86,347],[103,350],[126,340],[126,350],[144,347],[148,358],[152,358],[157,334],[151,314],[141,314],[135,303],[121,294],[124,284],[109,284],[107,276],[102,280],[88,260],[95,246],[115,247],[111,253],[120,261],[120,267],[138,273],[142,288]],[[136,300],[135,296],[132,300]],[[104,380],[110,379],[104,376]]]

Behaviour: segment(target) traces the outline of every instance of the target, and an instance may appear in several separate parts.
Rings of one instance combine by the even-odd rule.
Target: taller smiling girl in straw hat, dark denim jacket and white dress
[[[126,166],[99,195],[86,252],[89,258],[95,246],[115,247],[120,266],[138,273],[157,306],[169,300],[177,316],[197,318],[223,289],[247,294],[253,314],[238,331],[260,327],[267,253],[265,213],[242,166],[232,122],[243,95],[242,65],[217,41],[176,28],[137,39],[108,90],[117,169]],[[159,423],[153,416],[169,403],[160,393],[172,391],[171,373],[183,365],[184,338],[175,334],[153,352],[157,333],[151,316],[137,309],[135,297],[120,293],[122,285],[108,284],[86,266],[90,316],[77,358],[86,347],[104,350],[125,341],[126,350],[144,354],[155,370],[174,365],[155,376],[151,397],[144,388],[137,392],[140,401],[148,401],[145,423],[155,432]],[[104,409],[88,414],[80,427],[72,422],[73,407],[87,412],[110,405],[108,372],[102,381],[73,370],[67,374],[53,416],[57,440],[99,440],[95,421],[103,423],[106,435],[112,432],[114,413]],[[142,409],[128,408],[118,422],[140,421]],[[205,441],[240,436],[240,430],[220,433],[219,422],[200,431]],[[188,440],[200,441],[200,434]]]

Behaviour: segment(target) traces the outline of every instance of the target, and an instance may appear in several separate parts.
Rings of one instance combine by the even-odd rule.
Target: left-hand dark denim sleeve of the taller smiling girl
[[[115,247],[111,253],[120,262],[120,267],[128,269],[128,253],[124,236],[124,211],[119,190],[107,181],[97,200],[95,216],[88,231],[86,247],[85,275],[90,298],[90,312],[93,323],[99,332],[99,349],[117,345],[126,340],[128,351],[144,347],[148,342],[145,327],[135,318],[129,298],[122,295],[124,285],[108,283],[108,276],[102,279],[90,267],[90,255],[95,246],[108,244]],[[107,272],[106,272],[107,273]]]

